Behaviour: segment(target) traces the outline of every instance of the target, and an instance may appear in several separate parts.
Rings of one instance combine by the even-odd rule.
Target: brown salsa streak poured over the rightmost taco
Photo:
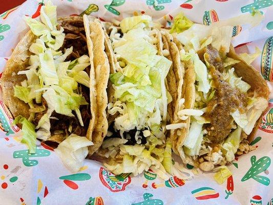
[[[234,119],[230,113],[236,110],[239,110],[240,113],[246,112],[247,98],[240,90],[232,88],[223,79],[220,72],[222,70],[222,61],[219,53],[216,53],[217,50],[210,49],[208,46],[206,51],[209,54],[209,64],[211,65],[209,72],[212,75],[216,91],[213,99],[207,104],[207,111],[203,114],[203,117],[210,121],[204,127],[208,131],[207,137],[217,144],[232,131]]]

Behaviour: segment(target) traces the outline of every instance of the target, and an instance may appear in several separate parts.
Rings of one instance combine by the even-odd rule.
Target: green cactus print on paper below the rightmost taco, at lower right
[[[264,156],[260,158],[258,161],[256,161],[256,156],[251,156],[250,162],[251,162],[251,167],[247,171],[247,173],[243,176],[241,181],[246,181],[250,178],[253,178],[259,183],[262,183],[263,185],[268,186],[270,183],[270,179],[265,176],[260,176],[258,174],[262,173],[270,166],[270,163],[271,163],[270,158],[267,156]]]

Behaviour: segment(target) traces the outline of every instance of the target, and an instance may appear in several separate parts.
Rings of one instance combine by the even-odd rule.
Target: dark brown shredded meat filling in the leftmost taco
[[[66,34],[64,44],[60,48],[60,50],[64,53],[67,48],[73,46],[73,52],[67,57],[66,61],[74,60],[82,55],[88,55],[88,48],[86,43],[86,36],[85,36],[85,29],[83,26],[82,20],[66,20],[61,23],[61,27],[64,28],[64,33]],[[85,69],[85,71],[90,75],[90,66]],[[90,90],[86,86],[78,84],[78,91],[79,93],[85,97],[86,101],[90,103]],[[41,104],[34,104],[35,107],[37,106],[45,106],[46,109],[43,112],[35,113],[34,120],[32,121],[33,124],[38,125],[38,121],[41,117],[47,112],[47,102],[44,98],[42,98]],[[90,112],[90,105],[82,105],[80,106],[80,113],[83,121],[84,127],[80,126],[79,120],[77,115],[74,111],[74,117],[69,117],[66,115],[61,115],[56,113],[55,111],[52,113],[50,119],[50,132],[51,134],[56,134],[56,132],[62,132],[64,135],[69,135],[74,133],[79,136],[86,136],[89,121],[91,118]],[[69,127],[71,126],[71,132],[69,132]]]

